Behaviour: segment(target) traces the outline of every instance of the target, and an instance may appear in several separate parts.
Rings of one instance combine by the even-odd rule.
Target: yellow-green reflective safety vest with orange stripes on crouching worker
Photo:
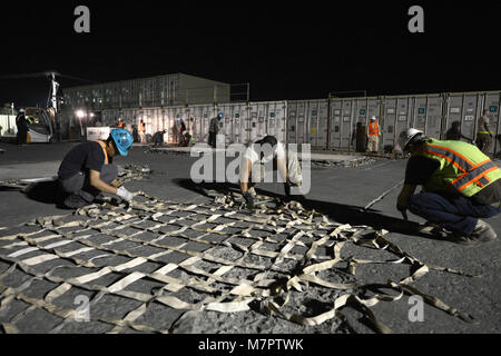
[[[501,178],[501,169],[477,146],[428,139],[418,156],[439,161],[425,191],[455,191],[468,198]]]

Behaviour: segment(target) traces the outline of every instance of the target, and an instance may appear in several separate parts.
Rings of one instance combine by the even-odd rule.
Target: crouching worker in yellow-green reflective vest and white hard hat
[[[497,238],[480,218],[501,211],[501,169],[475,146],[428,138],[416,129],[401,134],[411,154],[396,208],[444,229],[454,243],[474,245]],[[418,186],[423,191],[414,195]]]

